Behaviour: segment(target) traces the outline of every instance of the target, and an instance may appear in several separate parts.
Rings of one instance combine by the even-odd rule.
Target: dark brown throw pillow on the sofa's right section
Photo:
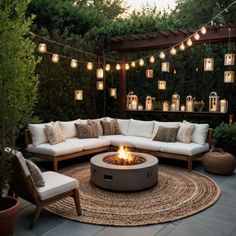
[[[167,128],[160,126],[155,137],[153,138],[153,141],[175,142],[178,129],[179,128]]]

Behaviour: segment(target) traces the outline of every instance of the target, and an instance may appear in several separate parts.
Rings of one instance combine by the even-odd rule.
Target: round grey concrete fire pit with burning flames
[[[113,191],[137,191],[150,188],[158,181],[158,159],[152,155],[129,152],[107,152],[90,160],[91,182]]]

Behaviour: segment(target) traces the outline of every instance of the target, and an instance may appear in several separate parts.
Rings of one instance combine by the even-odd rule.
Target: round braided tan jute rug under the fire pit
[[[93,186],[87,163],[62,173],[79,181],[82,215],[76,215],[71,197],[46,209],[92,224],[137,226],[173,221],[206,209],[220,197],[220,188],[209,177],[170,166],[159,166],[157,186],[135,193],[109,192]]]

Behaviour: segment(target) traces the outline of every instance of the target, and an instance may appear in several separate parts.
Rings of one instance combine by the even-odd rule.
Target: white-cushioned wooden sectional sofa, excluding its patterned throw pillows
[[[120,145],[133,151],[145,152],[157,157],[184,160],[188,170],[192,170],[192,162],[203,156],[211,146],[212,129],[208,124],[194,124],[190,143],[154,141],[160,127],[176,128],[187,122],[142,121],[135,119],[116,119],[119,133],[103,135],[100,121],[111,121],[109,117],[95,119],[100,133],[98,138],[81,139],[77,136],[75,123],[86,124],[88,120],[58,121],[65,141],[55,145],[48,142],[44,124],[29,124],[25,131],[25,151],[35,157],[53,162],[53,170],[58,170],[58,162],[86,154],[105,152],[117,149]]]

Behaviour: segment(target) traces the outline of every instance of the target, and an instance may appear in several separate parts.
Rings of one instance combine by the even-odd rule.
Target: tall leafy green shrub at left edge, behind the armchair
[[[0,3],[0,196],[11,177],[6,147],[15,147],[20,129],[28,123],[36,102],[38,80],[31,41],[33,17],[25,18],[28,0]]]

